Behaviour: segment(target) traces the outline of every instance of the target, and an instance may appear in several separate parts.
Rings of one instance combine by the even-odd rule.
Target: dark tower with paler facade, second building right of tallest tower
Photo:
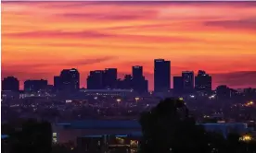
[[[183,71],[183,85],[185,93],[191,93],[194,91],[194,72],[193,71]]]

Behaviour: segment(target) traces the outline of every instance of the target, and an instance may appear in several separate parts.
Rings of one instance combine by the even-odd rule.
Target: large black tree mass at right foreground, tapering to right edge
[[[141,153],[255,153],[256,143],[243,142],[239,135],[225,139],[218,133],[206,132],[190,116],[183,100],[166,99],[140,118]]]

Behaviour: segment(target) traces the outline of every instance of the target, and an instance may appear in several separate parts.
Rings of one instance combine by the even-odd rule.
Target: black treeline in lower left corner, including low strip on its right
[[[51,124],[45,121],[29,119],[2,124],[2,134],[8,137],[2,140],[3,153],[71,153],[72,144],[53,144]]]

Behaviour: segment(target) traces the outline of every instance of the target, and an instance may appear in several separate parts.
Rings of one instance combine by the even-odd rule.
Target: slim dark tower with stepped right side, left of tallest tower
[[[148,81],[143,76],[143,67],[140,65],[133,66],[133,88],[139,93],[148,91]]]

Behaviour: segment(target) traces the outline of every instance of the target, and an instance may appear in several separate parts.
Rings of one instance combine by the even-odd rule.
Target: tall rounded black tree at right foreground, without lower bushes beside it
[[[142,126],[142,153],[208,152],[208,135],[203,127],[190,117],[183,100],[166,99],[144,112]]]

